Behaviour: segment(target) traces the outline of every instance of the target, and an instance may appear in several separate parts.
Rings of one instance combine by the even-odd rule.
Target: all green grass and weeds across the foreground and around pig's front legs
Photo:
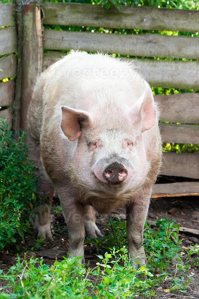
[[[134,298],[139,295],[153,297],[157,288],[167,281],[167,291],[189,290],[193,269],[199,265],[199,246],[185,250],[178,239],[179,225],[168,219],[156,221],[152,230],[146,223],[144,247],[147,266],[133,268],[127,255],[126,223],[110,219],[108,233],[104,237],[87,238],[86,243],[96,245],[98,262],[95,266],[81,265],[78,258],[63,258],[52,266],[42,258],[24,260],[18,258],[16,265],[7,273],[0,271],[0,278],[8,284],[2,288],[0,298]],[[171,264],[176,258],[175,264]],[[6,294],[5,288],[13,293]]]

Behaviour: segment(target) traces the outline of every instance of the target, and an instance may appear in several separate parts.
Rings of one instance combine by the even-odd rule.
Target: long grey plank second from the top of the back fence
[[[132,56],[199,58],[199,38],[189,36],[44,30],[44,49],[74,48]]]

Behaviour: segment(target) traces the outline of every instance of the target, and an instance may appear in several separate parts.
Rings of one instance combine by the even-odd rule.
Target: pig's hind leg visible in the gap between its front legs
[[[91,235],[94,238],[103,236],[95,224],[95,211],[90,205],[84,207],[84,222],[87,235]]]

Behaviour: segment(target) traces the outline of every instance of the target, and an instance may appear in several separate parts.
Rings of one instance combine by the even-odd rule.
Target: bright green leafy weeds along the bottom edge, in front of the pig
[[[100,261],[92,269],[78,264],[78,258],[64,258],[51,267],[43,264],[42,259],[23,262],[18,258],[17,264],[1,275],[13,287],[14,294],[2,293],[0,298],[91,298],[92,295],[92,298],[113,299],[147,292],[150,285],[144,277],[153,275],[145,266],[133,269],[125,247],[117,251],[113,248],[104,257],[98,257]],[[96,279],[95,283],[91,277]]]

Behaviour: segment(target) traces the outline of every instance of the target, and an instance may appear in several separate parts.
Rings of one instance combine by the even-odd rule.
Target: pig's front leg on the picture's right
[[[151,189],[147,192],[145,191],[145,194],[142,196],[134,198],[133,203],[126,208],[126,229],[129,243],[129,256],[133,261],[133,265],[137,267],[147,263],[143,247],[143,231],[150,198]],[[133,258],[136,258],[135,260],[139,261],[140,264],[137,264]]]

